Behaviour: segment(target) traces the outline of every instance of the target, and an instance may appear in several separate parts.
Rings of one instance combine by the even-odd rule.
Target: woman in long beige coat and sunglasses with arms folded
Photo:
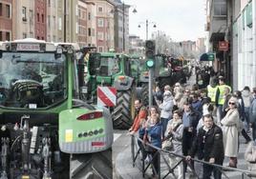
[[[224,156],[229,157],[229,166],[237,168],[238,133],[240,129],[237,98],[231,97],[228,101],[227,112],[221,121],[224,132]]]

